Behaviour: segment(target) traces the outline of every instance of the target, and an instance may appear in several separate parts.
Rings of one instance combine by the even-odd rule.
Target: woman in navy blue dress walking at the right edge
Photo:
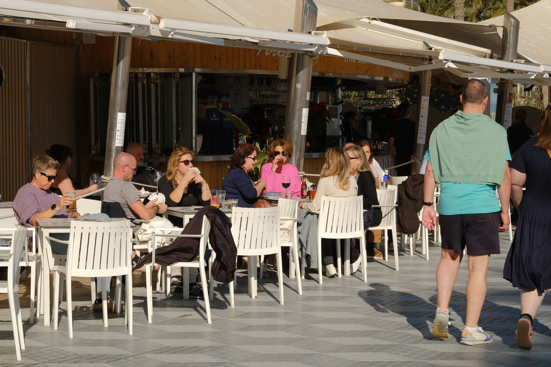
[[[541,133],[518,150],[511,185],[518,223],[503,277],[521,289],[516,343],[531,349],[532,322],[551,288],[551,108],[545,112]]]

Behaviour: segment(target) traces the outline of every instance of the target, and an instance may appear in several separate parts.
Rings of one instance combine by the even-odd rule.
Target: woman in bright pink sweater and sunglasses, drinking
[[[299,170],[287,163],[293,156],[293,146],[285,139],[274,140],[268,150],[268,155],[272,157],[272,162],[266,163],[260,169],[260,179],[266,182],[267,192],[282,193],[285,190],[293,191],[294,196],[300,197],[301,180]],[[290,186],[285,189],[282,185],[282,179],[285,176],[290,178]]]

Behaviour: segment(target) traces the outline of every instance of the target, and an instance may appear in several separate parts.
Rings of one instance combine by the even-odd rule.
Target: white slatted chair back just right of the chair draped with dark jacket
[[[231,234],[237,255],[275,254],[279,248],[279,209],[234,207],[231,211]]]

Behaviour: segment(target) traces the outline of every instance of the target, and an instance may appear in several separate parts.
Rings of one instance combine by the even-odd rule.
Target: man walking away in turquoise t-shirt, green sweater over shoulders
[[[467,247],[467,317],[461,344],[487,344],[493,337],[478,326],[486,297],[490,255],[499,254],[499,233],[509,227],[511,155],[505,129],[483,113],[488,103],[486,85],[469,79],[463,86],[458,111],[441,122],[430,136],[426,165],[423,225],[434,229],[435,182],[440,182],[438,220],[442,256],[436,270],[438,307],[432,333],[447,338],[449,304],[457,271]],[[495,195],[496,187],[499,200]]]

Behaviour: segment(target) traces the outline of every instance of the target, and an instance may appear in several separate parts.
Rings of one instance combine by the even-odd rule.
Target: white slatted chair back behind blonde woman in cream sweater
[[[317,222],[318,238],[355,238],[364,231],[363,196],[322,196]]]

